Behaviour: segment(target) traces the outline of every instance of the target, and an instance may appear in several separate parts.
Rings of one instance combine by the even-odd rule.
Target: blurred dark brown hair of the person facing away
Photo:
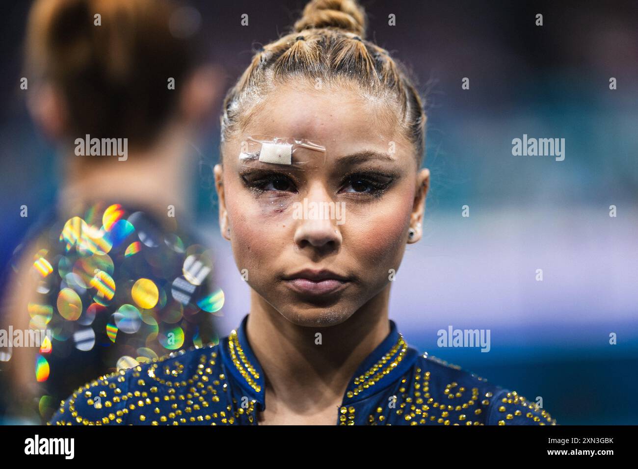
[[[179,33],[169,0],[38,0],[29,17],[27,77],[64,98],[66,138],[147,145],[174,112],[193,67],[195,34]],[[95,15],[100,15],[100,26]],[[186,36],[186,37],[184,37]],[[175,89],[168,89],[175,78]]]

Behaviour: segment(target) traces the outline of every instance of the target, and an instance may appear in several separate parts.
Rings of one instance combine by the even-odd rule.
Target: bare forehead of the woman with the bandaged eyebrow
[[[396,112],[387,101],[343,87],[280,86],[248,117],[244,133],[304,138],[326,147],[328,154],[357,145],[387,151],[397,132]]]

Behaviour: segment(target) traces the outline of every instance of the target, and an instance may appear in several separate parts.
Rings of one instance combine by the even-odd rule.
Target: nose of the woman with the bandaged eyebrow
[[[327,191],[317,185],[299,203],[295,244],[300,248],[338,249],[342,241],[336,220],[338,202],[334,202]]]

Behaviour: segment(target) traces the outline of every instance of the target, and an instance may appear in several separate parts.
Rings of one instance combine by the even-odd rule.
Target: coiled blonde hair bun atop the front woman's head
[[[366,12],[356,0],[311,0],[293,31],[311,27],[335,27],[365,38]]]

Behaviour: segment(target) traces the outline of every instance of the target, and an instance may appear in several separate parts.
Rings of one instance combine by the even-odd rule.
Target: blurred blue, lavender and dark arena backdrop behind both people
[[[403,61],[426,95],[432,172],[424,238],[410,245],[390,317],[408,343],[528,399],[559,424],[637,424],[638,6],[633,1],[362,1],[367,38]],[[191,2],[226,87],[251,48],[303,1]],[[0,267],[56,198],[54,149],[19,89],[29,2],[0,20]],[[249,26],[240,24],[248,13]],[[396,26],[388,15],[396,15]],[[535,15],[544,25],[535,26]],[[461,89],[463,77],[470,89]],[[615,77],[618,89],[609,89]],[[512,139],[565,138],[565,160],[512,156]],[[217,119],[197,153],[218,158]],[[219,237],[216,197],[193,165],[197,223],[217,252],[220,334],[248,312],[248,286]],[[20,218],[20,205],[29,217]],[[461,207],[470,207],[470,217]],[[618,216],[609,216],[616,205]],[[536,281],[542,269],[544,280]],[[491,351],[439,348],[439,329],[490,329]],[[615,332],[618,344],[609,344]]]

